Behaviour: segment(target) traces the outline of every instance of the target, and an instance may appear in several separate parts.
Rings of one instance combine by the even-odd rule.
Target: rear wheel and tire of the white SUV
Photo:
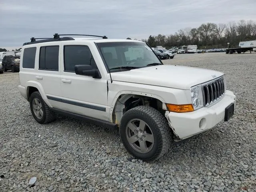
[[[30,96],[30,110],[34,119],[40,124],[47,124],[56,119],[56,114],[44,102],[39,91],[33,92]]]

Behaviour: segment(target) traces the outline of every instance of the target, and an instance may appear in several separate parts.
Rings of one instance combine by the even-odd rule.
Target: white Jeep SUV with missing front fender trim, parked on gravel
[[[18,89],[41,124],[60,113],[119,128],[126,149],[151,161],[234,113],[222,72],[163,65],[136,40],[60,36],[22,47]]]

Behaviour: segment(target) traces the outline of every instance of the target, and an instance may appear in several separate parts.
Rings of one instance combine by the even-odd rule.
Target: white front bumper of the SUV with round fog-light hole
[[[166,112],[165,116],[174,134],[180,139],[186,139],[210,128],[224,120],[225,108],[231,103],[235,104],[236,96],[231,91],[226,91],[223,98],[209,108],[201,108],[193,112],[176,113]],[[204,120],[202,120],[204,118]],[[202,124],[199,127],[199,122]]]

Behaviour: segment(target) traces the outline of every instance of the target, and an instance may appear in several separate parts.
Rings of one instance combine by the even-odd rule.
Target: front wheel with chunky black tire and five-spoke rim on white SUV
[[[122,142],[130,154],[144,161],[154,161],[169,149],[171,130],[166,118],[149,106],[128,110],[119,128]]]

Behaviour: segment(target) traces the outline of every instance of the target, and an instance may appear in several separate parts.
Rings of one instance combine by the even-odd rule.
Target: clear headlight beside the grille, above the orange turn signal
[[[194,110],[200,109],[204,106],[204,98],[201,85],[190,88],[190,96]]]

